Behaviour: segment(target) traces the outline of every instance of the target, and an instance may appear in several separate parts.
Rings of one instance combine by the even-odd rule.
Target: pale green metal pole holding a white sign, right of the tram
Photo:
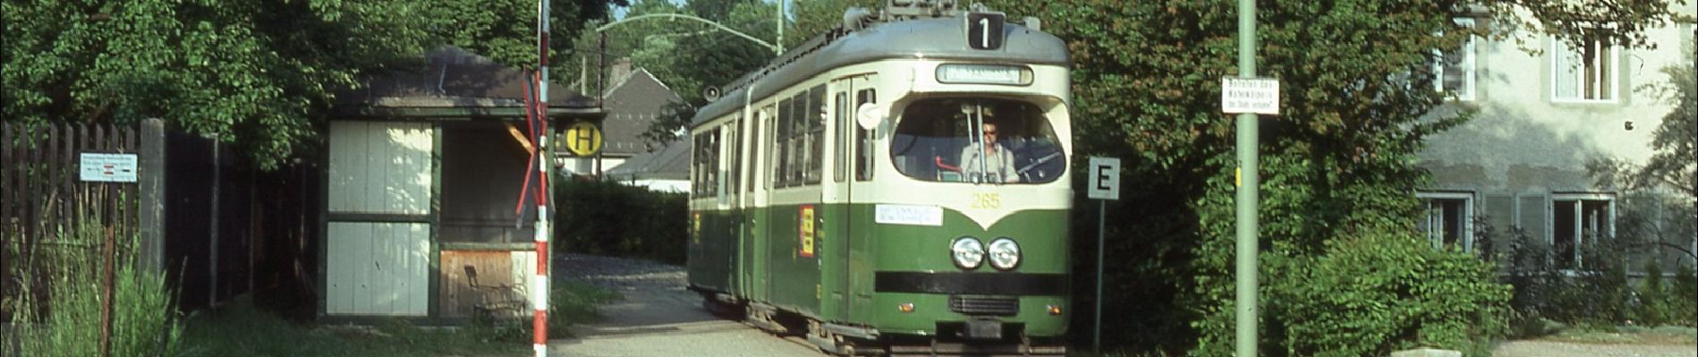
[[[1257,76],[1257,2],[1238,0],[1238,78]],[[1238,113],[1238,357],[1257,355],[1257,113]]]

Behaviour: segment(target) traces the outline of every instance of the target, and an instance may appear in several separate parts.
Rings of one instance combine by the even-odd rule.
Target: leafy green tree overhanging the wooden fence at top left
[[[5,2],[5,120],[166,118],[277,166],[362,73],[419,54],[421,0]],[[261,154],[263,152],[263,154]]]

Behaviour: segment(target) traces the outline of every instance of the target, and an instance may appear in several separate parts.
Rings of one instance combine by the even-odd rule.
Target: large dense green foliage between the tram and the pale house
[[[1416,166],[1423,137],[1472,115],[1435,110],[1445,103],[1425,90],[1435,80],[1428,69],[1435,52],[1469,36],[1520,39],[1518,29],[1649,46],[1642,29],[1676,19],[1671,2],[1661,0],[1504,0],[1481,5],[1503,14],[1493,24],[1518,25],[1452,22],[1476,3],[1258,2],[1258,73],[1279,78],[1282,90],[1282,115],[1260,120],[1263,352],[1481,349],[1477,337],[1501,332],[1504,286],[1487,262],[1406,242],[1418,240],[1408,232],[1420,217],[1409,193],[1428,179]],[[1236,7],[1204,0],[990,7],[1010,19],[1037,15],[1044,30],[1068,42],[1077,151],[1126,159],[1127,186],[1144,191],[1133,193],[1138,205],[1110,206],[1110,215],[1127,218],[1110,220],[1109,233],[1136,239],[1110,242],[1102,254],[1116,255],[1105,291],[1117,303],[1105,315],[1151,318],[1110,321],[1104,337],[1144,350],[1229,354],[1236,159],[1233,117],[1219,113],[1217,100],[1219,78],[1236,74]],[[1584,30],[1596,27],[1615,30]],[[1097,254],[1088,244],[1075,247],[1080,261]],[[1411,257],[1384,266],[1403,271],[1370,274],[1380,261]],[[1319,281],[1330,289],[1302,284]],[[1333,311],[1353,315],[1316,318]],[[1365,335],[1340,338],[1350,333]]]

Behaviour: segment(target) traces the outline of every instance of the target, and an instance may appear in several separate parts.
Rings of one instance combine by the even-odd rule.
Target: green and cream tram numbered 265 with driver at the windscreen
[[[1065,354],[1066,47],[949,5],[852,8],[698,110],[705,306],[841,355]]]

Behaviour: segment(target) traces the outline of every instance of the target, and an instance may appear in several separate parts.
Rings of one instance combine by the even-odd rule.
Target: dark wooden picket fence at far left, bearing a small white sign
[[[143,127],[155,135],[141,135]],[[151,176],[139,179],[163,168],[158,166],[160,127],[158,120],[138,127],[17,122],[0,127],[0,296],[7,301],[0,306],[0,321],[15,321],[12,315],[20,313],[10,311],[15,301],[51,310],[58,301],[49,289],[53,281],[98,277],[104,286],[100,349],[109,350],[114,264],[138,255],[153,259],[136,262],[160,261],[160,215],[143,215],[144,206],[158,206],[160,184]],[[155,173],[131,166],[139,166],[148,149],[155,152],[148,156]],[[100,164],[85,162],[85,157]],[[144,186],[153,189],[144,193]],[[144,244],[119,245],[117,239]]]

